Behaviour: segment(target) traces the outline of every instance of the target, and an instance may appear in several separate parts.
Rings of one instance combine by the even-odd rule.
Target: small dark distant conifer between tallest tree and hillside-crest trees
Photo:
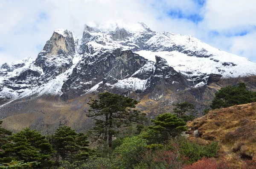
[[[173,112],[176,113],[179,118],[185,115],[186,112],[195,112],[194,105],[189,102],[177,103],[177,104],[173,104],[173,106],[176,106],[173,109]]]

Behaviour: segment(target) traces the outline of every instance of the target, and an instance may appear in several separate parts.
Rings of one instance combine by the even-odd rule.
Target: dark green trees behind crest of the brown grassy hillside
[[[225,108],[233,105],[252,103],[256,101],[256,92],[246,89],[245,83],[236,86],[222,87],[215,93],[212,100],[212,109]]]

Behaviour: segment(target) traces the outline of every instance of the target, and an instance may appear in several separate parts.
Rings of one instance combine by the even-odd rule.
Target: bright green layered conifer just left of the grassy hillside
[[[178,118],[177,115],[164,113],[158,115],[156,120],[151,120],[154,126],[149,126],[148,137],[155,140],[157,143],[163,143],[170,137],[175,137],[181,132],[187,131],[186,122]],[[154,141],[152,142],[154,143]]]

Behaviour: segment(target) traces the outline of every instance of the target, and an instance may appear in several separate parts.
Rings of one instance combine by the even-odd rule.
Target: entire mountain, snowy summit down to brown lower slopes
[[[0,118],[19,117],[15,123],[45,133],[62,123],[82,130],[81,123],[90,127],[88,97],[106,91],[140,100],[149,115],[183,101],[201,115],[221,86],[242,80],[255,89],[255,75],[256,64],[244,57],[144,23],[87,24],[79,38],[57,29],[35,60],[0,66]]]

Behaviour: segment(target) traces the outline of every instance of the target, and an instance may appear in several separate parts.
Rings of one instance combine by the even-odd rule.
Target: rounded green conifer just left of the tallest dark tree
[[[68,126],[61,126],[54,133],[53,143],[56,148],[56,160],[59,156],[62,160],[85,160],[92,151],[87,148],[89,141],[84,134],[78,134],[74,129]]]

